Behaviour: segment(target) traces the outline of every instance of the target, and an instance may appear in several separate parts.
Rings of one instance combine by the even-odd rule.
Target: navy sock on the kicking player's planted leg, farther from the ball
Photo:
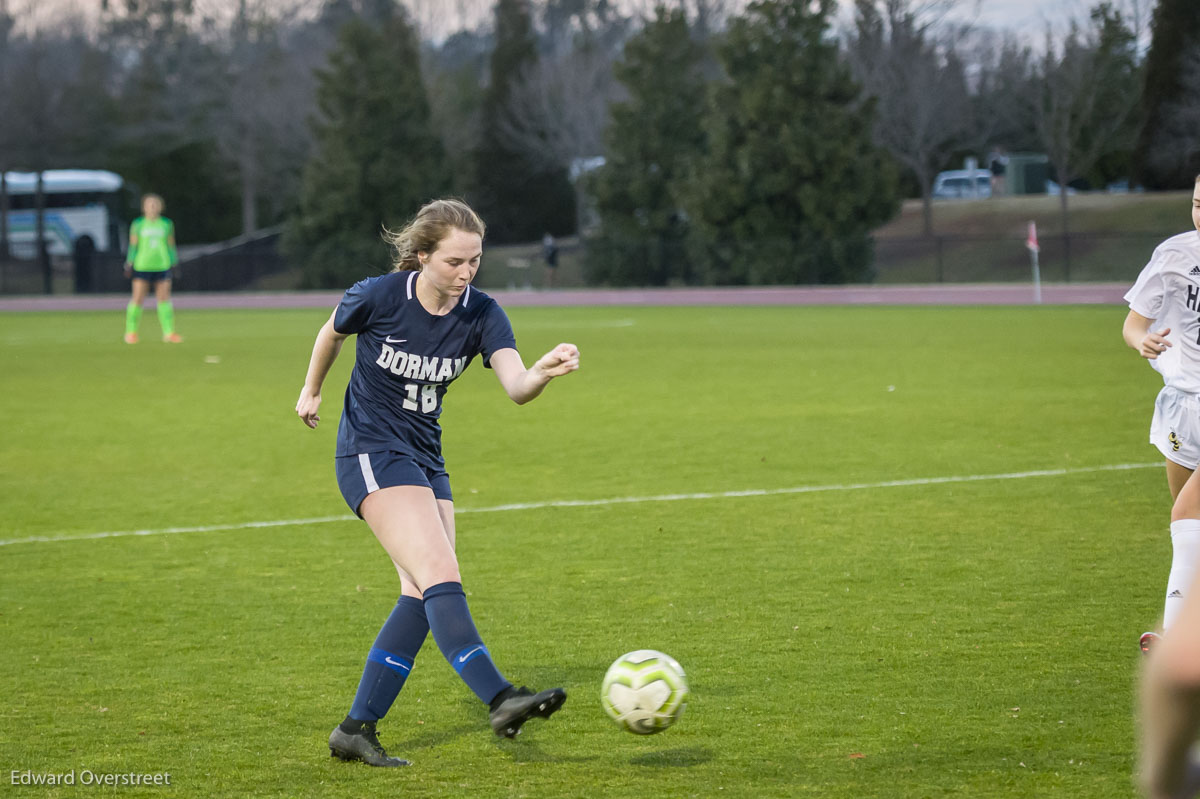
[[[367,654],[350,707],[352,719],[378,721],[388,714],[428,631],[425,603],[415,596],[401,596]]]

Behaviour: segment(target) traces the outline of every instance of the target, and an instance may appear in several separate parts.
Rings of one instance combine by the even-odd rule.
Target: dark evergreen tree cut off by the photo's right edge
[[[1200,2],[1158,0],[1151,23],[1150,52],[1146,54],[1146,83],[1141,94],[1141,132],[1134,154],[1135,179],[1146,188],[1190,188],[1200,172],[1200,154],[1192,160],[1159,157],[1160,133],[1169,107],[1182,100],[1183,61],[1200,48]],[[1176,148],[1166,148],[1171,155]]]

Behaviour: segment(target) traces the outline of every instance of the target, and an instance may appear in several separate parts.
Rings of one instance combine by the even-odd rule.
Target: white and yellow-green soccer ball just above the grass
[[[600,686],[600,703],[622,729],[653,735],[683,715],[688,680],[671,655],[638,649],[608,667]]]

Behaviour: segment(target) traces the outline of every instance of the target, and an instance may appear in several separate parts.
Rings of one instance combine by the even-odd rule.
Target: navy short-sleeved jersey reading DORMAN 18
[[[354,371],[337,427],[337,455],[407,452],[443,467],[442,397],[475,355],[512,348],[512,325],[496,300],[467,287],[437,317],[416,299],[416,272],[359,281],[334,312],[334,330],[356,334]]]

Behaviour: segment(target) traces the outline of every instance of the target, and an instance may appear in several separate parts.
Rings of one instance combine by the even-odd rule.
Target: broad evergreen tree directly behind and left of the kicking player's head
[[[398,7],[346,23],[317,86],[314,152],[284,247],[308,286],[388,271],[384,226],[398,227],[449,190],[421,82],[416,32]]]

